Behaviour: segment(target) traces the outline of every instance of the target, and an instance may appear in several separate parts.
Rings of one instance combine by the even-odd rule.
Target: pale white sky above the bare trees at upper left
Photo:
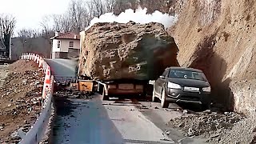
[[[17,20],[15,31],[40,28],[44,15],[62,14],[70,0],[0,0],[0,14],[13,14]]]

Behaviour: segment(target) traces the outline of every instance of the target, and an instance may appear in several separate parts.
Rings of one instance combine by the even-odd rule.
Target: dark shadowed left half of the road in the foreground
[[[95,97],[90,101],[54,97],[53,143],[123,143],[102,101]]]

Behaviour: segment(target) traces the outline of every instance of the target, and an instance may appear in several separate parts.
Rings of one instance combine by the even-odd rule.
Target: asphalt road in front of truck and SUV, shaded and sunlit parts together
[[[100,95],[90,100],[55,99],[57,117],[54,143],[202,143],[203,139],[185,138],[182,132],[166,126],[171,118],[182,115],[160,104],[136,99],[102,101]],[[174,107],[172,107],[174,106]],[[169,131],[168,134],[166,131]]]

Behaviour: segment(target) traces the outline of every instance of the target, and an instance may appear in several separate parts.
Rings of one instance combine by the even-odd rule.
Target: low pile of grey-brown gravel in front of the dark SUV
[[[174,118],[170,120],[168,125],[183,130],[185,135],[189,137],[203,136],[210,138],[218,130],[231,130],[235,123],[244,118],[244,116],[232,112],[226,112],[225,114],[190,114]]]

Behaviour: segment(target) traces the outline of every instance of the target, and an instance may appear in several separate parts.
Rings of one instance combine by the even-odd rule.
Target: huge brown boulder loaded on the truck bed
[[[98,23],[82,40],[79,74],[93,79],[149,80],[178,66],[178,47],[159,23]]]

